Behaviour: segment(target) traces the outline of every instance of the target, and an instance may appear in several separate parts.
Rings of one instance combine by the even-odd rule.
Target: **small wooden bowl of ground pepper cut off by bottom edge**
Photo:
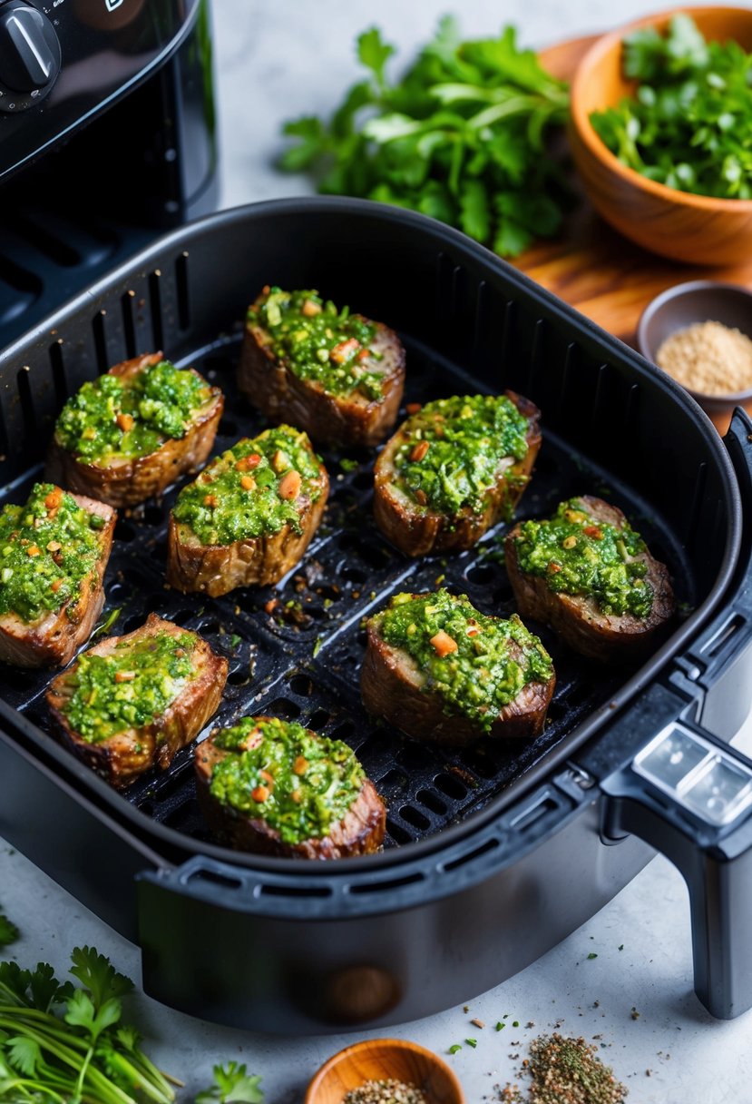
[[[342,1104],[351,1089],[388,1079],[421,1089],[428,1104],[465,1104],[456,1076],[438,1054],[416,1042],[367,1039],[346,1047],[314,1075],[305,1104]]]

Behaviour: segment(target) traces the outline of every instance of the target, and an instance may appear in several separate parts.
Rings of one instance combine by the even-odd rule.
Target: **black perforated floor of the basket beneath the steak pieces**
[[[451,364],[438,362],[409,337],[405,341],[410,364],[406,402],[477,390],[469,388]],[[264,426],[238,397],[238,340],[229,338],[203,357],[182,361],[193,363],[227,396],[226,410],[232,414],[222,422],[215,452]],[[545,514],[570,495],[606,497],[624,509],[654,554],[668,563],[678,598],[691,604],[690,566],[673,534],[624,486],[547,433],[545,412],[542,426],[544,445],[517,517]],[[161,501],[121,513],[106,576],[103,620],[120,611],[110,630],[120,635],[154,611],[201,633],[225,655],[229,678],[213,725],[232,723],[247,713],[272,714],[350,743],[387,806],[389,848],[437,832],[481,808],[546,756],[591,711],[605,704],[626,675],[574,656],[547,629],[530,623],[551,652],[557,673],[548,723],[538,739],[482,740],[458,752],[416,743],[368,718],[358,692],[363,617],[380,608],[391,593],[423,592],[437,585],[466,593],[483,613],[507,616],[514,603],[499,554],[506,527],[497,527],[470,552],[409,560],[374,524],[373,455],[327,450],[322,455],[332,484],[324,520],[303,561],[281,584],[238,590],[218,599],[170,590],[164,583],[164,563],[173,489]],[[4,499],[21,500],[37,476],[39,469],[17,482]],[[43,691],[50,677],[49,672],[0,670],[0,694],[46,733],[51,725]],[[195,800],[192,758],[192,749],[185,749],[169,771],[151,772],[131,785],[123,799],[154,820],[203,840],[207,836]]]

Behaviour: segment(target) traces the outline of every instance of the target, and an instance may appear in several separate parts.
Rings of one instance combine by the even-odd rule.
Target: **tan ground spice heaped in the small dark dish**
[[[752,388],[752,341],[722,322],[695,322],[663,342],[655,362],[677,383],[705,395]]]

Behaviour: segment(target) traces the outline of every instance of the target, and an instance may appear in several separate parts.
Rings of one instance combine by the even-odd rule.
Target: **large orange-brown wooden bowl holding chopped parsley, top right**
[[[569,138],[584,189],[595,210],[625,237],[675,261],[731,265],[752,251],[752,200],[692,195],[647,180],[622,164],[590,123],[591,112],[632,96],[635,83],[622,75],[622,40],[636,28],[664,32],[686,12],[707,41],[733,40],[752,50],[752,10],[683,8],[648,15],[603,35],[580,62],[571,85]]]

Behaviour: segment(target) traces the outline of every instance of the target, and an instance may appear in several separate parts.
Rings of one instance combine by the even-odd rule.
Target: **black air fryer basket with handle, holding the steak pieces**
[[[373,454],[325,452],[333,495],[302,563],[276,588],[210,599],[164,585],[172,491],[120,513],[112,631],[151,609],[196,629],[229,660],[217,721],[276,714],[351,743],[388,808],[384,852],[307,863],[218,847],[191,749],[115,793],[49,734],[50,672],[10,669],[0,834],[140,944],[148,992],[286,1031],[375,1027],[468,999],[583,923],[655,847],[689,885],[700,999],[716,1016],[743,1011],[752,762],[727,744],[751,686],[742,412],[721,442],[668,378],[438,223],[357,201],[282,201],[163,237],[0,357],[3,498],[20,500],[39,476],[66,396],[139,353],[162,349],[224,389],[217,449],[256,432],[234,376],[245,309],[268,283],[315,287],[395,327],[407,402],[505,388],[531,399],[544,446],[518,516],[577,493],[614,501],[669,565],[681,619],[636,671],[578,658],[540,627],[557,670],[545,732],[434,749],[365,714],[362,618],[397,591],[441,584],[508,615],[503,526],[470,552],[408,560],[373,523]]]

